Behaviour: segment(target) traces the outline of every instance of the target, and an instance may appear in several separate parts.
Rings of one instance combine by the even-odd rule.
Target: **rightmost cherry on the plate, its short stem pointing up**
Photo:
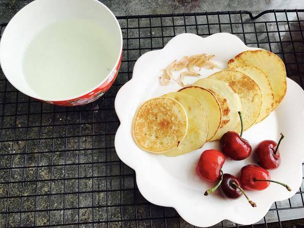
[[[272,140],[265,140],[259,143],[255,149],[257,163],[264,169],[276,169],[281,164],[279,145],[284,138],[281,133],[279,143]]]

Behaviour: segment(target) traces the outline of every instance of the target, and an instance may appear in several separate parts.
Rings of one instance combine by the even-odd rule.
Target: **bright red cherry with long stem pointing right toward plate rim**
[[[240,181],[242,186],[247,190],[263,190],[269,186],[270,182],[273,182],[291,191],[288,185],[270,179],[270,173],[258,165],[246,165],[241,169]]]

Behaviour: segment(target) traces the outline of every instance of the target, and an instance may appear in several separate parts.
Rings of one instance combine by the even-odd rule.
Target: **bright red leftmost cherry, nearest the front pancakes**
[[[216,182],[221,177],[221,168],[225,162],[225,155],[218,150],[205,150],[196,165],[196,173],[201,179]]]

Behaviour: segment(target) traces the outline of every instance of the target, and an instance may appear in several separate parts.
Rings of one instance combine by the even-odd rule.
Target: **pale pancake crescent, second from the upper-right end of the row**
[[[272,112],[274,106],[274,94],[267,75],[255,66],[237,66],[231,69],[244,73],[259,85],[262,93],[262,107],[256,122],[262,121]]]

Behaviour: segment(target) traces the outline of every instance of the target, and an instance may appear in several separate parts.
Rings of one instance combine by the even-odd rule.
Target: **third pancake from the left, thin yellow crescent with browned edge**
[[[210,141],[210,139],[218,132],[222,121],[222,110],[218,99],[211,91],[199,86],[185,87],[178,92],[191,95],[200,102],[208,118],[209,132],[207,141]]]

